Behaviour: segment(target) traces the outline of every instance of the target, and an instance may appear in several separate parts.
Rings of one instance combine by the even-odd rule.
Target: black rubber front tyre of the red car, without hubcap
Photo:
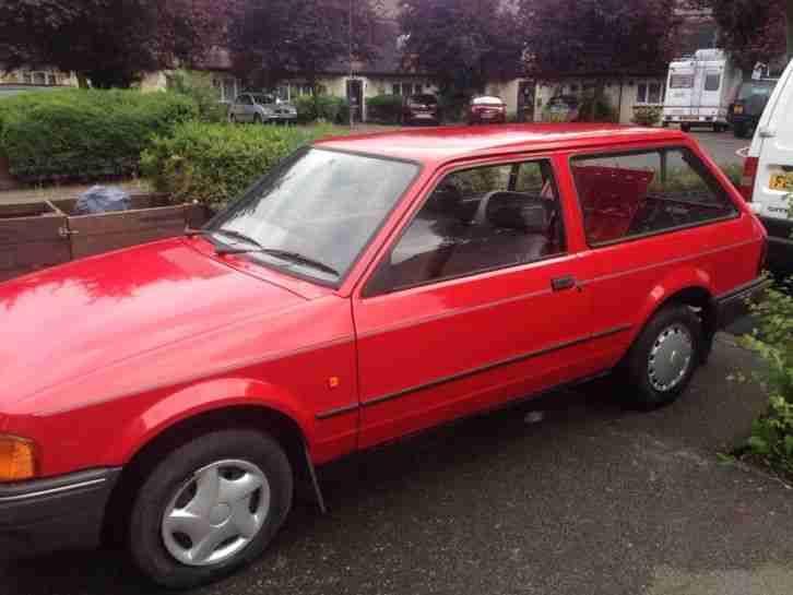
[[[179,562],[165,546],[163,516],[199,469],[228,460],[256,465],[268,480],[270,505],[261,528],[242,549],[221,562]],[[190,588],[226,576],[258,558],[281,528],[292,508],[293,483],[286,454],[268,435],[255,430],[217,431],[184,444],[154,467],[137,492],[129,524],[129,549],[135,566],[147,579],[169,588]]]

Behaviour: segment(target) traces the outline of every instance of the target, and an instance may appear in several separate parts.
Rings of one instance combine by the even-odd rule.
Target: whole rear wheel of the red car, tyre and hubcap
[[[702,325],[685,305],[666,306],[647,324],[627,358],[631,402],[655,408],[674,402],[702,360]]]

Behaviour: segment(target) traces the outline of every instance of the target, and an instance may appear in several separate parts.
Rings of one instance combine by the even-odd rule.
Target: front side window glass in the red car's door
[[[561,221],[547,159],[454,171],[435,187],[367,294],[559,254]]]

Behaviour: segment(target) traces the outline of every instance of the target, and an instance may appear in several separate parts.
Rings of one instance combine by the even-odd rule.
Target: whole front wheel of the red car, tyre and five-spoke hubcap
[[[292,508],[279,443],[253,430],[204,435],[167,454],[143,481],[129,546],[149,579],[188,588],[257,558]]]

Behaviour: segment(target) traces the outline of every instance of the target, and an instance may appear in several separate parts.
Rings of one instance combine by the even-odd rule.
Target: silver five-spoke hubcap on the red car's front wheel
[[[247,461],[218,461],[197,471],[163,515],[165,548],[187,566],[236,556],[261,531],[270,511],[270,484]]]

